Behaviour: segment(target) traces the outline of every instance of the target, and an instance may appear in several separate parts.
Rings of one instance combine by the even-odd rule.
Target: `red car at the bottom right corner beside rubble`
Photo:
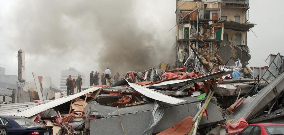
[[[250,124],[240,135],[284,135],[284,124]]]

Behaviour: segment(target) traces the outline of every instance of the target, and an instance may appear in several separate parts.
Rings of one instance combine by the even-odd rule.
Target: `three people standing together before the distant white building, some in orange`
[[[71,75],[66,79],[66,86],[67,86],[67,96],[74,94],[74,90],[77,87],[77,92],[81,92],[81,86],[83,84],[83,80],[81,78],[81,75],[78,75],[78,78],[71,78]]]

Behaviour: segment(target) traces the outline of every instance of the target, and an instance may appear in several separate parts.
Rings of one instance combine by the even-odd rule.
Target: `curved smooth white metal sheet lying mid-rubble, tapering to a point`
[[[166,102],[166,103],[169,103],[169,104],[178,104],[178,103],[181,103],[181,102],[187,102],[186,100],[181,100],[181,99],[178,99],[178,98],[167,96],[165,94],[161,94],[159,92],[148,89],[144,86],[140,86],[140,85],[133,84],[133,83],[130,83],[130,82],[128,82],[128,84],[133,89],[135,89],[137,92],[140,92],[141,94],[143,94],[143,95],[145,95],[149,98],[158,100],[158,101]]]

